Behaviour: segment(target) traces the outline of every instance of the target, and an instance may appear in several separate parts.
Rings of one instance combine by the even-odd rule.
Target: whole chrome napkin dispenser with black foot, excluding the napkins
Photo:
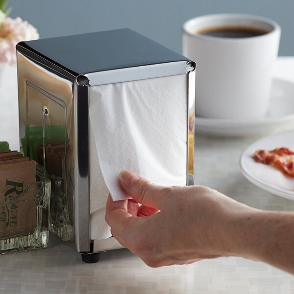
[[[90,236],[91,87],[183,77],[185,181],[193,185],[196,64],[127,28],[20,42],[16,48],[20,146],[51,180],[50,231],[84,261],[96,262],[100,252],[122,246],[113,237]]]

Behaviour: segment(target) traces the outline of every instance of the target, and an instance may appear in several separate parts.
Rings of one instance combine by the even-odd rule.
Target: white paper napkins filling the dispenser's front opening
[[[186,88],[185,74],[90,87],[91,239],[111,236],[104,207],[109,192],[128,197],[122,170],[159,185],[186,184]]]

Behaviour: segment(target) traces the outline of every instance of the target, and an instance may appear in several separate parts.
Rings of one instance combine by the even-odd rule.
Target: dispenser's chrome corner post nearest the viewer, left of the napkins
[[[74,152],[74,239],[78,252],[90,253],[89,80],[78,75],[73,84],[76,148]]]

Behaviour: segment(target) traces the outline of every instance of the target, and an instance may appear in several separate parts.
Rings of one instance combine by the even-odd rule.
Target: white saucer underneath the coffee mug
[[[256,120],[222,120],[195,117],[195,132],[219,136],[270,134],[294,128],[294,82],[274,78],[269,111]]]

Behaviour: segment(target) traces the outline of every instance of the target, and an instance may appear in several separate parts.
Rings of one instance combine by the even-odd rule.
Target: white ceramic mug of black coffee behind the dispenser
[[[212,36],[234,31],[237,37]],[[242,30],[252,35],[243,36]],[[206,35],[207,34],[207,35]],[[182,27],[183,54],[196,61],[196,116],[248,120],[268,109],[273,65],[281,29],[252,15],[215,14],[196,17]]]

